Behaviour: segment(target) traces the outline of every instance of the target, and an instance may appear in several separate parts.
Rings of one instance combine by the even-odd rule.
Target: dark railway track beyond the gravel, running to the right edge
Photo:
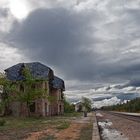
[[[109,113],[111,115],[118,116],[120,118],[125,118],[131,121],[139,122],[140,123],[140,116],[138,115],[131,115],[131,114],[125,114],[125,113],[120,113],[120,112],[111,112],[111,111],[104,111],[104,113]]]

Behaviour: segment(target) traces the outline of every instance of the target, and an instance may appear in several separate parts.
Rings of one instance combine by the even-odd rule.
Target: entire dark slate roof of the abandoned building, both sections
[[[49,80],[52,83],[53,88],[65,90],[64,81],[61,78],[54,76],[51,68],[39,62],[18,63],[5,70],[7,78],[11,81],[24,80],[25,77],[22,74],[24,67],[29,69],[33,78]]]

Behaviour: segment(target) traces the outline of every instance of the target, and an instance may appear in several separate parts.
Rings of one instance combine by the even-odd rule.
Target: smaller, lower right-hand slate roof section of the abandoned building
[[[65,90],[64,81],[61,78],[54,76],[53,88]]]

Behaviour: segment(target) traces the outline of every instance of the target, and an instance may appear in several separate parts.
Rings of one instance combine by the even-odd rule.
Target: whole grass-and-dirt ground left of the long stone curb
[[[50,118],[4,118],[0,126],[2,140],[90,140],[92,113]],[[83,135],[84,131],[84,135]]]

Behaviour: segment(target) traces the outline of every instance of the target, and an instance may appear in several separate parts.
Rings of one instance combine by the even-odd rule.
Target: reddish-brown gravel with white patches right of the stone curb
[[[140,122],[97,112],[103,140],[140,140]]]

